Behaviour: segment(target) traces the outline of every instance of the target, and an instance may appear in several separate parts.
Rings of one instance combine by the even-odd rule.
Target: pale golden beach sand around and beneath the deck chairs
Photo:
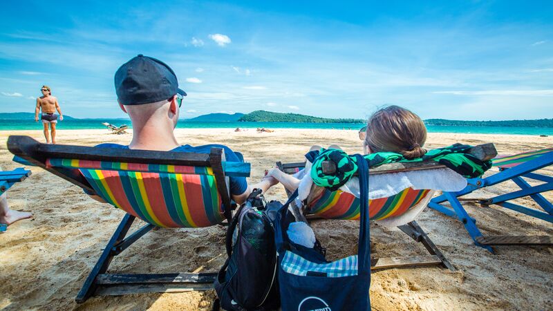
[[[44,140],[41,131],[0,132],[0,165],[15,169],[6,150],[10,134]],[[251,181],[257,181],[274,162],[297,162],[312,144],[339,144],[349,153],[361,151],[356,131],[277,129],[235,133],[233,129],[178,129],[182,144],[224,143],[243,152],[252,163]],[[58,142],[93,146],[101,142],[129,142],[131,135],[109,135],[102,130],[59,131]],[[553,138],[525,135],[431,133],[428,147],[453,142],[494,142],[500,154],[553,147]],[[82,194],[69,182],[41,169],[18,183],[8,198],[13,209],[32,211],[0,234],[0,309],[6,310],[210,310],[214,291],[173,294],[135,294],[73,300],[100,256],[123,212]],[[553,168],[543,173],[553,175]],[[474,194],[486,197],[514,184],[491,187]],[[550,200],[553,193],[545,194]],[[284,200],[281,187],[270,189],[268,199]],[[534,206],[530,200],[522,203]],[[484,234],[553,234],[553,225],[500,207],[465,203]],[[138,222],[140,225],[140,222]],[[496,254],[473,245],[462,224],[431,209],[418,223],[458,268],[418,267],[373,272],[371,301],[375,310],[551,310],[553,309],[553,248],[496,247]],[[134,227],[137,227],[135,225]],[[355,253],[356,222],[324,220],[314,225],[328,247],[330,258]],[[115,258],[111,272],[189,272],[200,266],[215,272],[223,264],[221,227],[156,229]],[[371,227],[373,256],[425,254],[422,245],[398,229]]]

